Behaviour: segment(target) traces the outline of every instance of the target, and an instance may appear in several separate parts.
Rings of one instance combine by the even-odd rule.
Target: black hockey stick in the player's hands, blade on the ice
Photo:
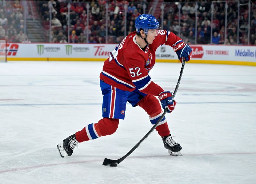
[[[176,87],[175,87],[175,90],[172,94],[172,98],[174,99],[176,93],[177,93],[177,90],[179,88],[179,85],[180,85],[180,80],[181,80],[181,76],[182,76],[182,73],[183,73],[183,70],[184,70],[184,66],[185,66],[185,61],[182,62],[182,66],[181,66],[181,70],[180,70],[180,76],[179,76],[179,79],[178,79],[178,82],[176,84]],[[140,146],[140,144],[145,140],[147,139],[147,137],[149,136],[149,134],[151,132],[153,132],[156,128],[156,126],[162,121],[162,119],[164,118],[165,114],[167,113],[167,108],[165,108],[164,110],[164,113],[162,114],[162,116],[160,116],[160,118],[158,119],[158,121],[156,122],[156,124],[149,130],[149,132],[128,152],[126,153],[126,155],[124,155],[122,158],[119,158],[117,160],[111,160],[111,159],[108,159],[108,158],[105,158],[104,161],[103,161],[103,164],[102,165],[110,165],[112,167],[116,167],[117,164],[119,164],[120,162],[122,162],[127,156],[129,156],[136,148],[138,148]]]

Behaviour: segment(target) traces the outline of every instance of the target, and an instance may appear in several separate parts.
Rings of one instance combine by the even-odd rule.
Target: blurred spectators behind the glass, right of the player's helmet
[[[212,44],[248,44],[248,1],[240,1],[239,14],[239,34],[238,28],[238,4],[237,1],[228,1],[227,9],[227,36],[225,40],[225,2],[215,2],[213,9],[212,20]],[[255,2],[254,2],[255,3]],[[211,1],[198,2],[197,11],[197,44],[209,44],[211,42]],[[178,5],[175,3],[165,3],[164,8],[164,28],[179,33],[179,17]],[[186,40],[187,43],[195,44],[196,34],[196,3],[187,1],[181,3],[181,24],[180,37]],[[250,44],[256,45],[256,7],[251,4],[250,14]],[[160,17],[161,18],[161,17]],[[238,42],[237,43],[237,38]]]

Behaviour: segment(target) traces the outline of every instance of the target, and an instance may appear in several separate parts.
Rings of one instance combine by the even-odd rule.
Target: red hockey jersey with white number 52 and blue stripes
[[[155,65],[155,51],[163,44],[172,47],[181,39],[172,32],[161,30],[153,43],[143,50],[136,43],[136,36],[136,31],[130,33],[110,52],[100,79],[121,90],[133,91],[138,88],[140,92],[157,96],[164,90],[148,75]]]

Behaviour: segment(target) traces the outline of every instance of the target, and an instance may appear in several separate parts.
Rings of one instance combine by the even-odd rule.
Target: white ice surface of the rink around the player
[[[101,119],[103,62],[0,63],[0,183],[256,183],[256,67],[186,63],[166,116],[182,157],[127,104],[116,133],[83,142],[61,158],[56,145]],[[174,90],[181,64],[156,63],[152,80]],[[150,105],[150,104],[149,104]]]

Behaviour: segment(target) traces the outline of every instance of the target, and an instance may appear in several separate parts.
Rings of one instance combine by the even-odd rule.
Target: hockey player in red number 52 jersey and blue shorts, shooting
[[[180,61],[189,61],[192,50],[174,33],[160,30],[159,22],[152,15],[138,16],[135,27],[136,31],[126,36],[110,52],[100,73],[103,118],[97,123],[88,124],[58,144],[61,157],[71,156],[78,143],[116,132],[119,119],[124,119],[127,101],[133,107],[143,108],[153,125],[163,113],[154,96],[159,96],[161,105],[164,109],[167,108],[167,112],[174,110],[176,102],[172,99],[172,92],[164,91],[151,81],[148,72],[155,65],[155,51],[160,45],[171,46]],[[156,131],[170,154],[182,156],[179,152],[182,148],[173,140],[165,117],[156,127]]]

